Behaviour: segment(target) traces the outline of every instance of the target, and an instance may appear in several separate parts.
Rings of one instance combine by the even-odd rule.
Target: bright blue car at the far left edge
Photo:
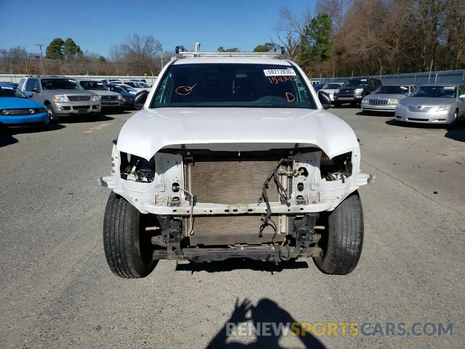
[[[48,124],[46,107],[29,99],[17,87],[0,84],[0,126],[44,126]]]

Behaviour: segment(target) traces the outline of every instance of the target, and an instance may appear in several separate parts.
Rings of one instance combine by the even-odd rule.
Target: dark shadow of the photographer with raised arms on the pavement
[[[247,316],[248,312],[251,313],[250,317]],[[244,322],[249,322],[250,324],[250,327],[246,327],[247,331],[243,329],[242,326],[234,330]],[[295,324],[291,328],[291,324],[294,322]],[[280,330],[279,325],[283,326],[284,329]],[[236,299],[236,306],[233,310],[233,314],[231,314],[231,318],[225,323],[223,328],[219,330],[217,335],[213,337],[210,343],[208,343],[206,349],[282,348],[278,341],[281,336],[285,336],[283,331],[286,331],[286,328],[289,329],[287,336],[291,336],[291,333],[294,333],[296,336],[292,337],[299,338],[305,348],[326,349],[323,343],[312,335],[312,330],[307,327],[308,325],[305,325],[305,328],[302,329],[302,324],[300,322],[294,320],[285,309],[279,307],[279,305],[271,299],[263,298],[259,301],[257,306],[254,307],[252,302],[248,299],[245,299],[239,304],[238,298]],[[250,329],[250,331],[248,329]],[[256,336],[256,340],[247,344],[240,342],[226,343],[233,333],[238,332],[241,334],[250,333]],[[239,337],[236,336],[235,338]]]

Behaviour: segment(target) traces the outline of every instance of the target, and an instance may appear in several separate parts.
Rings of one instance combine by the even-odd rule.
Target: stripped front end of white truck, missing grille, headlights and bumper
[[[99,183],[153,215],[154,226],[144,229],[152,234],[155,260],[321,257],[328,212],[374,180],[360,173],[358,148],[330,159],[312,145],[180,144],[147,160],[114,143],[112,175]]]

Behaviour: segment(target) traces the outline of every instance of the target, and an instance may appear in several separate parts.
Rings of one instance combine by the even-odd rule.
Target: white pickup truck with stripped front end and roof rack
[[[160,259],[301,257],[352,272],[364,235],[357,189],[374,176],[360,172],[357,137],[329,99],[279,53],[176,51],[137,94],[141,110],[99,178],[112,189],[103,238],[113,273],[144,277]]]

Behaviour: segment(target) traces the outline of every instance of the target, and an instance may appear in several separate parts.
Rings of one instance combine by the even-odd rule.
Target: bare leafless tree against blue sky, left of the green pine
[[[312,16],[309,10],[300,17],[296,17],[287,7],[279,10],[279,21],[273,29],[278,36],[279,42],[284,46],[289,59],[295,60],[299,54],[300,37],[304,34],[305,26],[310,23],[311,19]],[[272,38],[271,41],[273,44],[279,45]]]

